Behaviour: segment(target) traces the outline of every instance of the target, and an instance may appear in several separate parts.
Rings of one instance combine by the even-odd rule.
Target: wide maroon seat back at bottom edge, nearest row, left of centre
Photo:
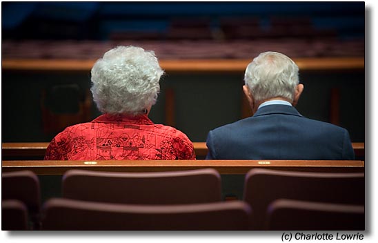
[[[247,230],[251,209],[240,201],[130,205],[53,198],[43,206],[43,230]]]

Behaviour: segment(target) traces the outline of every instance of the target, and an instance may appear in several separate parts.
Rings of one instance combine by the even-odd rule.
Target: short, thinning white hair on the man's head
[[[248,64],[244,81],[255,101],[284,97],[293,101],[299,68],[279,52],[262,52]]]

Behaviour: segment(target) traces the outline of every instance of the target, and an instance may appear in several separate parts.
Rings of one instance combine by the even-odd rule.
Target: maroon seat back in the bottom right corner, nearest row
[[[364,206],[275,200],[268,206],[266,230],[364,231]]]

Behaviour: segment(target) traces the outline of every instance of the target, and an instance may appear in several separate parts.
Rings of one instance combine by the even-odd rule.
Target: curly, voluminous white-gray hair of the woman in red
[[[90,91],[102,113],[138,115],[156,103],[163,73],[155,52],[117,46],[94,64]]]

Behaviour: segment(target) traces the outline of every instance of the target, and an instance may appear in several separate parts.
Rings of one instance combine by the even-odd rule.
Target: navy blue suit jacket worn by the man
[[[269,105],[208,133],[206,159],[355,159],[346,129]]]

